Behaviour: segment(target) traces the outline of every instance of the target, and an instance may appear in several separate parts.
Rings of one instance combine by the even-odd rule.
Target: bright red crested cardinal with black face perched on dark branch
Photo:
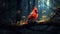
[[[26,23],[28,23],[28,21],[30,21],[30,20],[35,21],[37,18],[38,18],[38,10],[35,6],[34,9],[32,10],[32,12],[30,13],[30,15],[28,16]]]

